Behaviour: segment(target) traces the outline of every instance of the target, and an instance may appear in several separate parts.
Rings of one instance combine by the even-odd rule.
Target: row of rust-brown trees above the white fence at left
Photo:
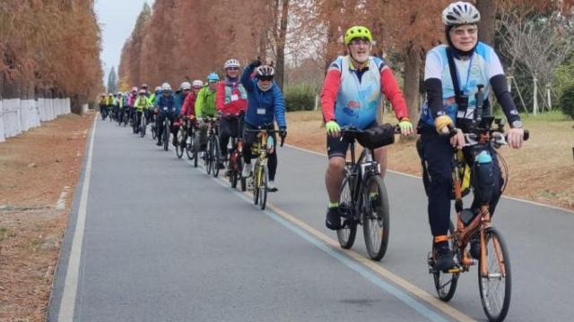
[[[93,0],[0,2],[0,95],[71,97],[73,109],[103,89]]]

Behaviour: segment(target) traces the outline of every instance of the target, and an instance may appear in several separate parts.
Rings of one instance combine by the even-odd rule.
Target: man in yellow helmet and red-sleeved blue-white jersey
[[[321,90],[321,106],[326,122],[328,165],[325,174],[329,205],[326,227],[341,228],[339,193],[344,179],[344,165],[349,140],[340,138],[341,126],[351,125],[360,130],[378,126],[378,106],[383,94],[391,102],[403,135],[413,133],[403,93],[398,88],[393,72],[381,58],[370,55],[370,30],[353,26],[344,34],[349,55],[335,59]],[[387,168],[386,148],[377,148],[373,156],[380,165],[381,176]]]

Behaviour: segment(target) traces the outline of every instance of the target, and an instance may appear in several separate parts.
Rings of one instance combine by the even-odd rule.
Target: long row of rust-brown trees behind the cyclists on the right
[[[282,87],[283,81],[290,83],[291,80],[318,84],[335,56],[345,54],[344,30],[362,24],[370,27],[377,40],[375,54],[387,57],[404,81],[410,113],[416,116],[424,54],[444,42],[441,13],[451,2],[251,0],[239,6],[230,0],[156,0],[153,10],[144,5],[135,30],[126,41],[119,80],[124,89],[143,81],[153,85],[164,80],[178,84],[189,78],[203,78],[208,72],[221,71],[222,63],[230,57],[247,63],[257,55],[271,55],[276,61],[276,79]],[[559,38],[568,35],[563,23],[570,13],[571,0],[476,0],[474,3],[483,17],[481,40],[496,45],[497,49],[508,49],[509,42],[516,42],[517,46],[510,46],[515,52],[504,50],[503,57],[517,69],[535,63],[526,63],[522,57],[522,49],[528,47],[524,45],[523,35],[515,37],[516,41],[510,38],[516,31],[512,26],[519,21],[513,17],[532,19],[537,15],[539,24],[534,30],[550,25],[548,28],[553,31],[561,30]],[[561,22],[552,24],[548,22],[551,20]],[[501,41],[495,35],[502,35]],[[538,58],[542,60],[552,59],[555,51],[567,53],[572,49],[570,43],[562,41],[556,45],[555,40],[538,39],[531,45],[554,49],[544,53],[533,49],[532,55],[541,55]],[[561,46],[563,44],[569,46]],[[555,64],[544,66],[536,64],[536,73],[546,75],[548,71],[541,72],[544,68],[556,67]]]

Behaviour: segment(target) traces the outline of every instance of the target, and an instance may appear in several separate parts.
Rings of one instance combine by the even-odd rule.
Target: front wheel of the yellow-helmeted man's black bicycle
[[[385,182],[378,175],[367,179],[363,195],[362,231],[369,257],[380,260],[385,256],[388,245],[388,197]]]

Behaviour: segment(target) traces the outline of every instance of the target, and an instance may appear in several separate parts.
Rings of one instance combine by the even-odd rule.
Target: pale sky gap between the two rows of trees
[[[145,2],[152,6],[154,0],[96,0],[94,8],[101,28],[100,57],[104,71],[104,83],[107,83],[112,66],[116,67],[117,72],[122,47],[134,30],[135,20]]]

